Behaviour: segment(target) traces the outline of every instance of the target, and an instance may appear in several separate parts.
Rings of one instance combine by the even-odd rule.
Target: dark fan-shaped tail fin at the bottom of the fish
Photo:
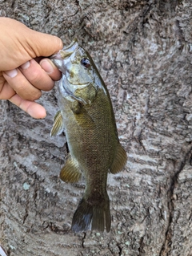
[[[101,204],[91,205],[84,197],[76,209],[71,229],[74,232],[90,230],[110,232],[110,200],[102,201]]]

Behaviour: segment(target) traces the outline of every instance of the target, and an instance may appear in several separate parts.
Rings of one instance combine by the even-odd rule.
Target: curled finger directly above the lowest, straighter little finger
[[[24,100],[38,100],[42,95],[42,91],[34,87],[17,68],[2,73],[7,83],[14,91]]]

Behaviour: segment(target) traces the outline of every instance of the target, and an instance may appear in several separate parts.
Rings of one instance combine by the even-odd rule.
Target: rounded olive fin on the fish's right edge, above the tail
[[[126,151],[122,148],[121,144],[118,144],[116,155],[114,156],[114,161],[110,166],[110,173],[118,173],[126,165],[127,156]]]

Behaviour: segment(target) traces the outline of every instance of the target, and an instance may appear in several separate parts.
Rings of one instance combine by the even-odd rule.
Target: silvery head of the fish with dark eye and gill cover
[[[75,39],[69,47],[64,47],[50,58],[62,72],[59,91],[63,96],[89,104],[98,87],[102,87],[97,67],[89,53],[79,47]]]

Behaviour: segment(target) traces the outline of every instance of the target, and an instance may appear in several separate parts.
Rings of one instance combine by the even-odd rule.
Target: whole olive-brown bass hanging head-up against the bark
[[[74,39],[50,59],[62,72],[58,108],[50,136],[65,133],[69,148],[62,181],[76,183],[82,174],[86,189],[74,213],[71,230],[110,232],[108,173],[126,165],[126,151],[118,139],[109,91],[90,54]]]

